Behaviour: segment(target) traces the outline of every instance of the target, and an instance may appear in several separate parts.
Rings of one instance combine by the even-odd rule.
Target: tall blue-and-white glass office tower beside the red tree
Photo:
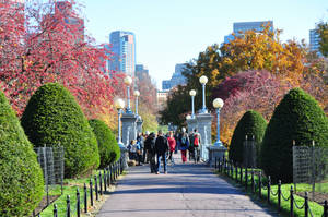
[[[109,35],[110,71],[122,72],[134,76],[136,72],[136,36],[131,32],[116,31]]]

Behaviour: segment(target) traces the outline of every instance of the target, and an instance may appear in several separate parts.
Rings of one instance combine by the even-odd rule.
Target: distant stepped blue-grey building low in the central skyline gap
[[[178,63],[175,65],[175,72],[173,73],[171,80],[162,81],[162,89],[172,89],[177,85],[184,85],[187,83],[186,77],[183,72],[187,71],[187,63]]]

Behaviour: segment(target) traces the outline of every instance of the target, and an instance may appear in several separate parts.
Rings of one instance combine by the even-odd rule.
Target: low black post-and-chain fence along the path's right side
[[[267,191],[267,203],[271,203],[271,195],[278,197],[278,210],[281,212],[281,201],[286,201],[290,204],[290,216],[294,216],[294,208],[297,209],[304,209],[304,216],[314,216],[309,205],[308,205],[308,195],[305,192],[304,195],[304,203],[302,205],[297,204],[294,200],[294,189],[291,186],[290,194],[283,195],[281,191],[281,181],[278,182],[278,189],[276,192],[271,190],[271,179],[270,177],[267,178],[266,182],[262,181],[262,172],[258,171],[258,173],[255,173],[255,170],[251,169],[250,171],[250,178],[248,173],[248,168],[244,168],[243,166],[238,167],[235,166],[232,161],[226,160],[225,158],[218,159],[215,158],[215,170],[218,170],[221,173],[224,173],[232,179],[235,179],[236,182],[239,182],[242,185],[245,186],[245,190],[247,191],[248,188],[250,188],[251,193],[258,194],[258,197],[262,197],[262,191]],[[257,176],[257,180],[255,177]],[[243,179],[244,178],[244,179]],[[323,217],[328,217],[328,203],[327,201],[324,202],[324,213],[321,215]]]

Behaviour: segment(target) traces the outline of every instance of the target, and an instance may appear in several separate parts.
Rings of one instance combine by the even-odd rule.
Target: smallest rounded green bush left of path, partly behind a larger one
[[[98,142],[101,168],[105,168],[119,159],[120,148],[115,140],[114,133],[105,122],[93,119],[90,120],[89,123]]]

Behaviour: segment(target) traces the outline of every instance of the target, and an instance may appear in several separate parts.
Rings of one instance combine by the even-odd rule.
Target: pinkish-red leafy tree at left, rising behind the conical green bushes
[[[110,107],[115,77],[104,74],[106,52],[84,35],[73,5],[1,2],[0,81],[17,114],[47,82],[68,87],[90,118]]]

